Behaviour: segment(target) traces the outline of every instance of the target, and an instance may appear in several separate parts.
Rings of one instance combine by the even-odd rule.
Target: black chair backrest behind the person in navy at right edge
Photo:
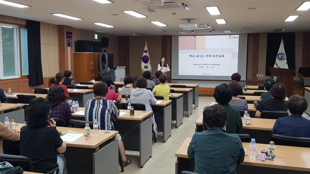
[[[273,134],[272,141],[275,142],[275,145],[310,147],[310,138],[305,137],[293,137],[293,136]]]

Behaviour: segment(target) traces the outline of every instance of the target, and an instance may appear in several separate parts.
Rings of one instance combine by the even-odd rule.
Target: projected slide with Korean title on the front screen
[[[239,35],[179,36],[179,75],[238,72]]]

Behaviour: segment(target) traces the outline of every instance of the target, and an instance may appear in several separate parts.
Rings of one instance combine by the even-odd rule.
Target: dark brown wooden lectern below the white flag
[[[295,70],[272,67],[269,67],[269,70],[271,73],[271,78],[273,79],[274,76],[276,76],[276,83],[282,83],[284,85],[286,97],[291,97],[293,95]]]

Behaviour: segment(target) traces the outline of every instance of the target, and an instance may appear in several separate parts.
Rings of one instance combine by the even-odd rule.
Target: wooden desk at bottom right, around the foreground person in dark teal
[[[187,147],[191,141],[191,137],[187,137],[178,151],[175,153],[177,157],[175,173],[180,174],[181,171],[194,171],[194,161],[189,160],[187,156]],[[249,154],[249,143],[242,143]],[[257,152],[268,147],[268,144],[256,144]],[[274,160],[258,161],[245,156],[241,165],[237,165],[237,174],[309,174],[310,150],[306,147],[293,147],[276,145],[277,152]]]

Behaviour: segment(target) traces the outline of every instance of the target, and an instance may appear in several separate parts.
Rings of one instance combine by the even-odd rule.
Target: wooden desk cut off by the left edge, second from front
[[[4,121],[5,117],[15,119],[16,123],[25,123],[24,104],[1,103],[0,106],[0,120]]]

